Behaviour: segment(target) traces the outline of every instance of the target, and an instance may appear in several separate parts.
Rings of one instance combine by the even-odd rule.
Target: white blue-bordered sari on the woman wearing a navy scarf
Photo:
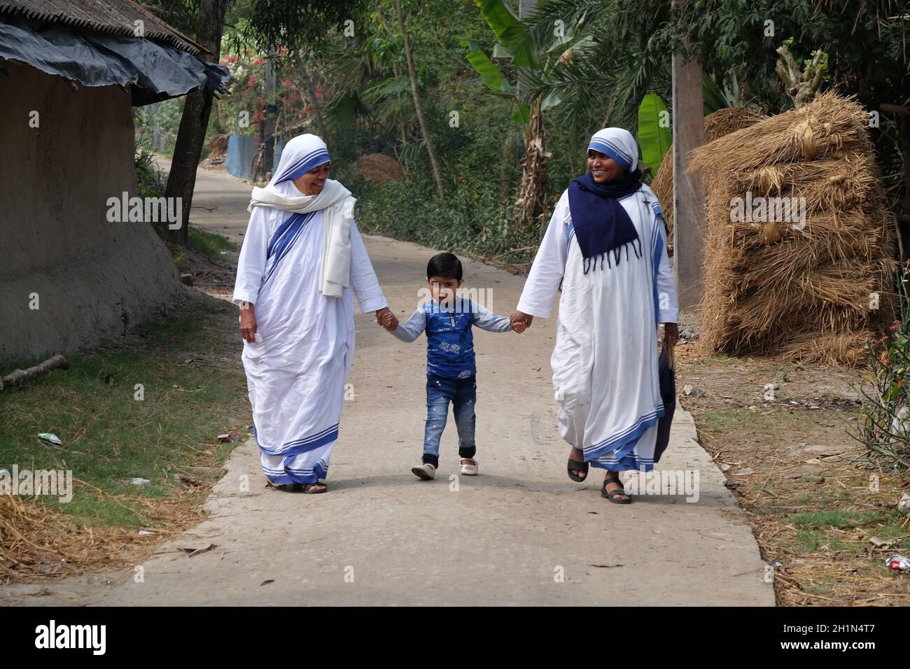
[[[647,186],[619,200],[641,242],[619,248],[621,261],[587,271],[562,194],[521,294],[518,309],[549,316],[561,285],[553,385],[560,434],[584,460],[611,471],[650,471],[657,421],[657,324],[676,322],[678,301],[657,198]]]

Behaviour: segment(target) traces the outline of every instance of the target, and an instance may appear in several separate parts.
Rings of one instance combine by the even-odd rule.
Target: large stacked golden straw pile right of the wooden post
[[[703,353],[852,366],[895,318],[894,221],[867,118],[826,93],[693,151],[708,194]]]

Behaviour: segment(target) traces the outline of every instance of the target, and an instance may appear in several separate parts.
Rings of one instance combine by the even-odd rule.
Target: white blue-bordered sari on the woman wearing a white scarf
[[[274,188],[300,195],[291,182]],[[350,287],[340,298],[319,290],[324,213],[254,207],[238,262],[234,301],[255,304],[262,337],[242,355],[253,430],[275,483],[326,477],[354,357],[354,297],[364,312],[388,306],[353,221]]]

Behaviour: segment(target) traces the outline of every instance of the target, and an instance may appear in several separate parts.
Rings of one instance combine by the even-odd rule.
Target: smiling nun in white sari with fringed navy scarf
[[[622,128],[591,137],[589,172],[554,209],[512,315],[513,326],[549,317],[561,290],[553,386],[569,476],[607,470],[602,496],[629,503],[618,473],[650,471],[657,421],[657,326],[677,339],[679,310],[657,198],[640,181],[638,146]]]

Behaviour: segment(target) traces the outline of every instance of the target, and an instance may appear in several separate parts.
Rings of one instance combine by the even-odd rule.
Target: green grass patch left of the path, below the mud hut
[[[217,309],[194,304],[156,324],[137,346],[73,356],[69,370],[0,392],[0,468],[11,471],[16,463],[20,471],[72,470],[74,479],[103,491],[76,483],[69,503],[35,498],[80,525],[147,525],[140,500],[117,503],[110,496],[164,500],[186,494],[173,468],[223,461],[237,445],[216,439],[247,405],[242,370],[218,360],[236,357],[238,347],[231,348],[233,339],[213,318]],[[185,361],[191,358],[214,364]],[[143,400],[135,399],[136,384],[143,386]],[[45,445],[38,432],[56,434],[62,448]],[[135,486],[134,477],[151,482]],[[214,482],[217,476],[194,478]]]

